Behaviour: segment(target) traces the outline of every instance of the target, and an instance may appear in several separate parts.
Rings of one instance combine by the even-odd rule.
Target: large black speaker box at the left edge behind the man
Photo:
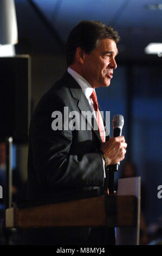
[[[0,57],[0,139],[28,143],[31,116],[30,56]]]

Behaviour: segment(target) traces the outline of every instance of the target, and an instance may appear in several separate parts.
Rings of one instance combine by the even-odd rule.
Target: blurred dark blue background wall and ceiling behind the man
[[[147,227],[161,223],[162,199],[157,197],[157,187],[162,185],[162,54],[146,54],[144,50],[151,42],[162,42],[162,2],[15,0],[15,6],[18,26],[15,54],[30,56],[31,113],[41,96],[66,70],[64,45],[77,23],[100,20],[119,32],[118,68],[111,86],[97,89],[100,106],[103,111],[111,111],[111,120],[115,114],[125,118],[122,134],[128,143],[127,154],[115,181],[121,176],[124,162],[131,160],[144,187]],[[13,162],[25,181],[28,143],[15,147]]]

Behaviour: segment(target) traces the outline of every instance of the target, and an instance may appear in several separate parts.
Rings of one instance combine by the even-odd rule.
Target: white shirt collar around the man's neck
[[[90,85],[90,83],[88,83],[88,81],[84,77],[82,77],[80,74],[78,74],[73,69],[68,68],[67,71],[71,76],[73,76],[73,78],[76,80],[76,82],[82,88],[83,93],[85,94],[86,98],[88,99],[94,90],[92,88],[92,86]]]

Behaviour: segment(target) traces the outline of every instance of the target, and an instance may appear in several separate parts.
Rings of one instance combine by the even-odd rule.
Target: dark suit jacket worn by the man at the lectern
[[[51,114],[61,112],[64,127],[64,107],[68,107],[68,112],[77,111],[80,121],[81,111],[92,112],[85,94],[68,72],[42,97],[31,119],[27,182],[27,200],[30,202],[96,188],[99,193],[103,192],[99,131],[54,131]]]

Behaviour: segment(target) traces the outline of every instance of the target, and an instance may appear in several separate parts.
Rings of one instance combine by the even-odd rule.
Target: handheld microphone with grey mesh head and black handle
[[[122,115],[114,115],[113,118],[113,137],[121,136],[122,127],[124,125],[124,117]],[[114,172],[118,170],[120,163],[112,164],[109,166],[108,171],[108,190],[109,194],[114,193]]]

